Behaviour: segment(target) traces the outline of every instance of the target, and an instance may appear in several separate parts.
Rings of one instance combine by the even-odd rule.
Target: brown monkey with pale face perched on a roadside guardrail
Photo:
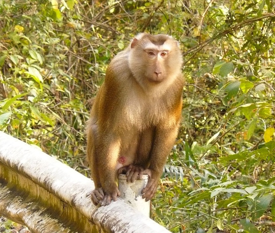
[[[154,196],[181,120],[182,55],[165,34],[138,34],[106,70],[86,124],[87,157],[95,189],[91,200],[106,206],[120,196],[118,174]]]

